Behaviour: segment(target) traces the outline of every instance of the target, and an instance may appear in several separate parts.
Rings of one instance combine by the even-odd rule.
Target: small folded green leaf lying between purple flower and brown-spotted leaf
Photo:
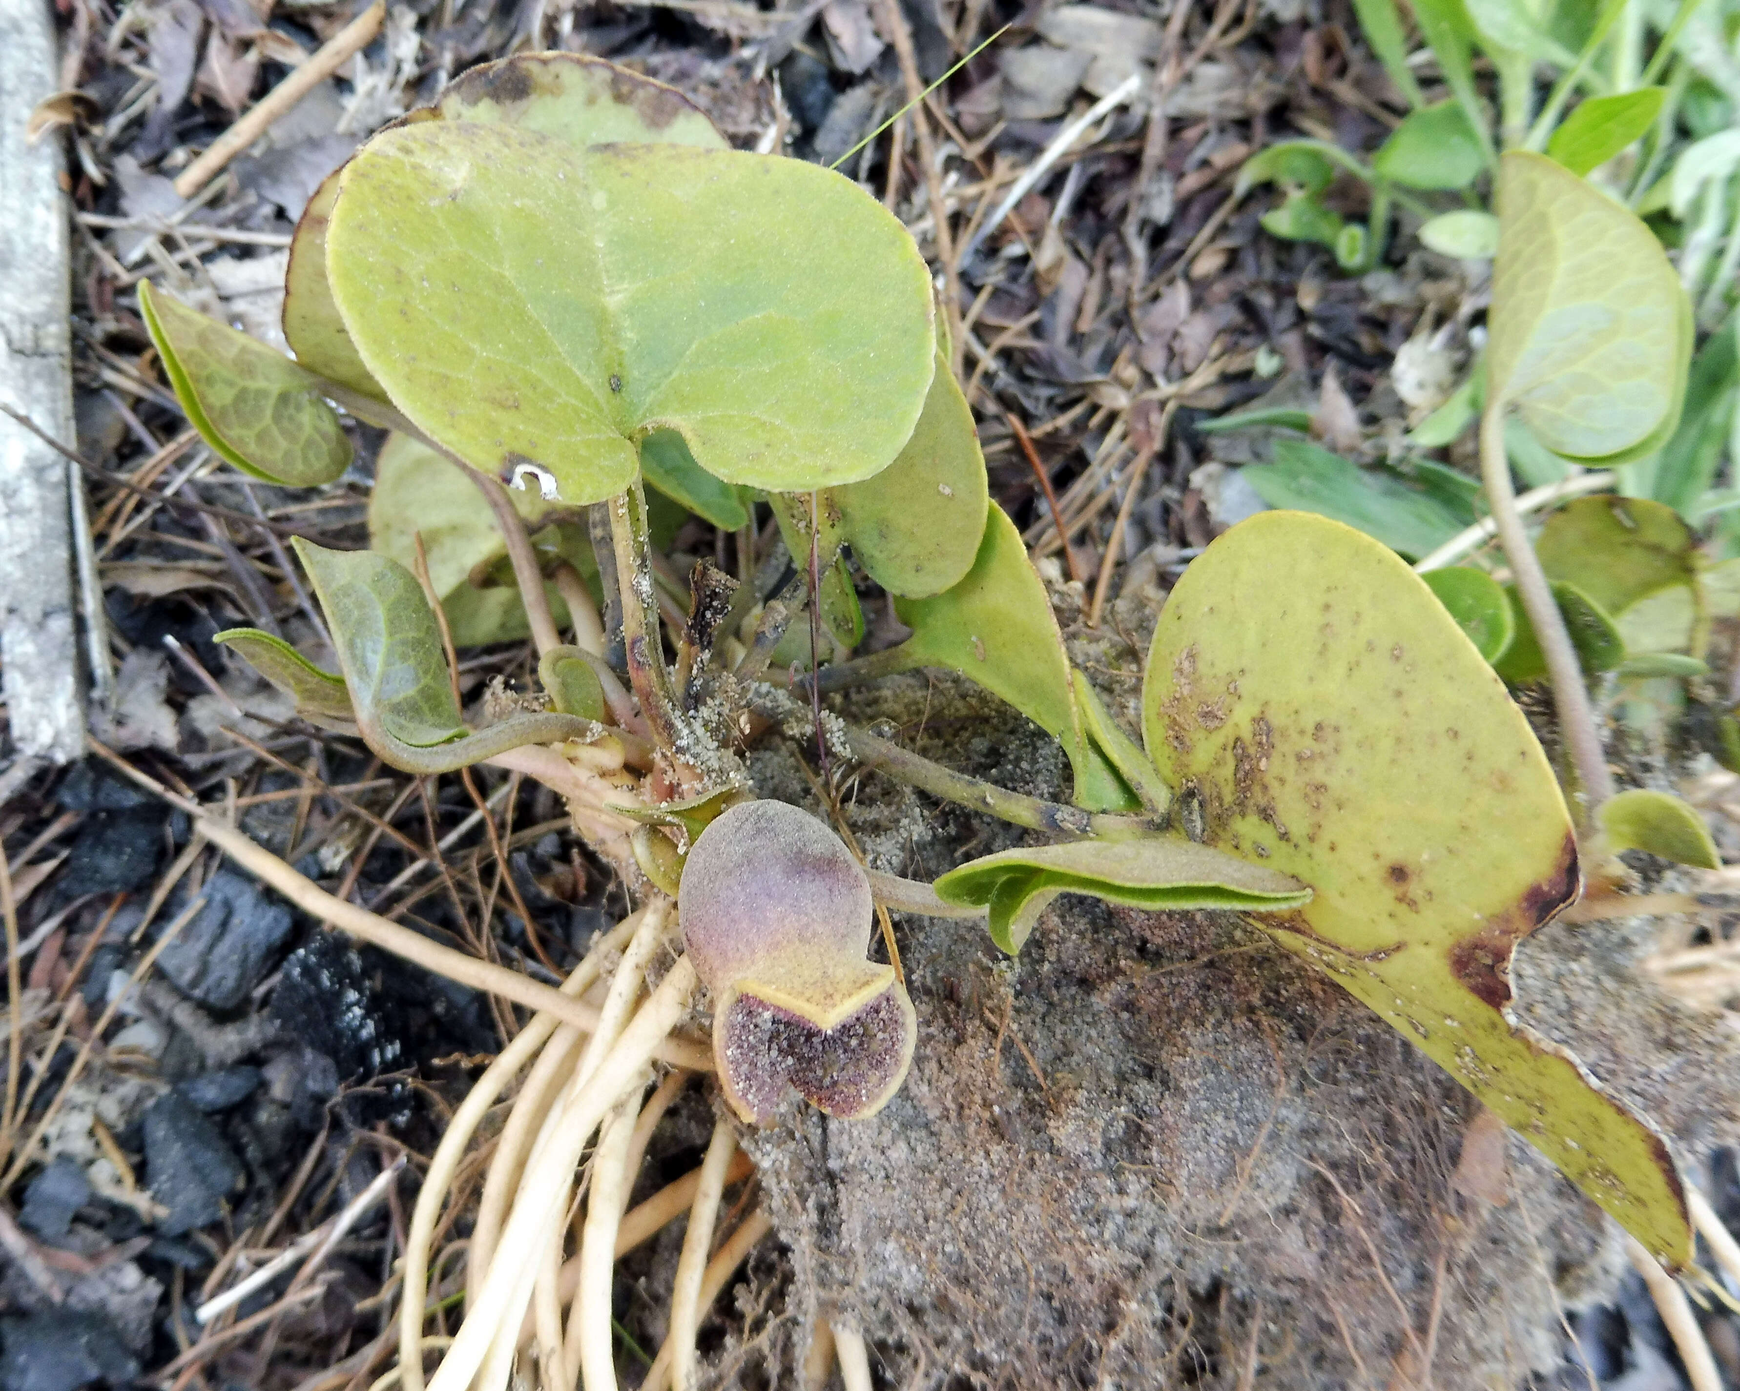
[[[1183,836],[1004,850],[950,869],[934,887],[943,902],[985,908],[992,941],[1011,956],[1058,894],[1168,913],[1279,913],[1310,902],[1310,890],[1298,880]]]

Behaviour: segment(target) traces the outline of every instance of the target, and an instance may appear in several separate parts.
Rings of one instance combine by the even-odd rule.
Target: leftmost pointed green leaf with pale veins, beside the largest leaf
[[[139,311],[188,424],[219,457],[268,483],[306,489],[350,468],[350,440],[322,381],[284,353],[139,282]]]

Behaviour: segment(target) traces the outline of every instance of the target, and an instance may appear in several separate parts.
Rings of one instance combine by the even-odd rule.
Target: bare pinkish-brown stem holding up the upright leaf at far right
[[[1596,809],[1613,796],[1613,774],[1601,748],[1601,732],[1589,702],[1589,687],[1583,683],[1576,649],[1571,647],[1564,616],[1552,598],[1547,574],[1540,569],[1535,548],[1522,529],[1522,516],[1517,513],[1516,492],[1510,489],[1510,461],[1505,456],[1503,400],[1488,402],[1481,417],[1481,480],[1486,483],[1486,501],[1498,529],[1498,544],[1510,562],[1522,612],[1528,614],[1542,657],[1547,661],[1552,701],[1559,711],[1559,735],[1582,782],[1583,819],[1592,821]]]

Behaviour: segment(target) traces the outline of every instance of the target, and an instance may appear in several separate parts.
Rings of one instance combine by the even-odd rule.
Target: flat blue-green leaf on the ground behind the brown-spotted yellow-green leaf
[[[1305,440],[1275,440],[1274,463],[1246,468],[1244,478],[1274,508],[1333,516],[1416,560],[1465,525],[1441,499]]]

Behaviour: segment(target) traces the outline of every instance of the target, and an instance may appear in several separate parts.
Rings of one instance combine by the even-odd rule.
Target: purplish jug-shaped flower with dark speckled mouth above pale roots
[[[917,1015],[894,968],[867,960],[870,880],[825,822],[783,802],[733,807],[689,850],[677,911],[738,1116],[766,1125],[793,1090],[870,1116],[900,1090]]]

